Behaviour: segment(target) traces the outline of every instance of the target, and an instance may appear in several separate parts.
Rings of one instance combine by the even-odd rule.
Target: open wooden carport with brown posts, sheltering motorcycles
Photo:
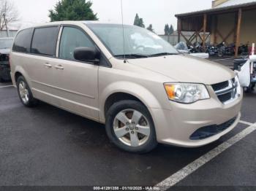
[[[178,42],[180,42],[181,36],[184,37],[187,44],[192,44],[193,40],[200,38],[203,42],[203,49],[205,50],[206,39],[211,35],[211,42],[213,44],[222,42],[226,44],[228,44],[227,42],[235,43],[237,57],[238,47],[241,43],[241,24],[242,22],[246,23],[249,19],[243,19],[244,12],[249,12],[249,15],[252,15],[250,19],[256,20],[256,2],[178,14],[176,15],[178,18]],[[223,23],[222,15],[225,15],[225,23]],[[222,22],[222,25],[219,22]],[[252,23],[255,23],[255,26],[252,26],[252,28],[255,28],[256,22]],[[224,31],[223,28],[227,30]],[[247,29],[248,27],[245,28]],[[187,39],[182,34],[182,31],[193,31],[194,34]],[[254,36],[252,36],[253,34]],[[252,38],[255,38],[253,40],[256,40],[256,31],[254,33],[252,32],[252,35]]]

